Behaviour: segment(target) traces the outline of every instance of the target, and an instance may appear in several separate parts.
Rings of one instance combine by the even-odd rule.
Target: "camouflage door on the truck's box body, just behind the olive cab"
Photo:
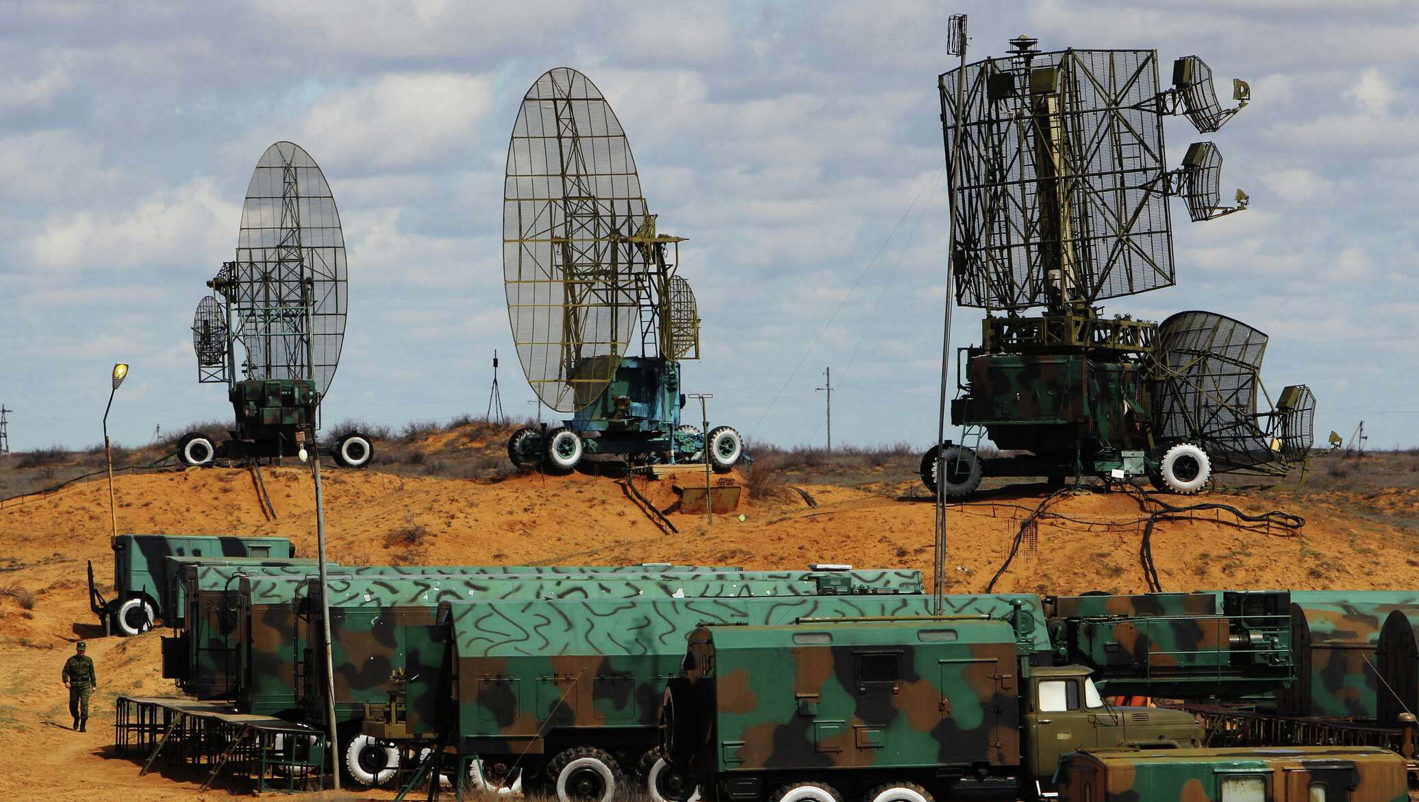
[[[1010,652],[938,661],[942,764],[1019,764],[1019,690]]]

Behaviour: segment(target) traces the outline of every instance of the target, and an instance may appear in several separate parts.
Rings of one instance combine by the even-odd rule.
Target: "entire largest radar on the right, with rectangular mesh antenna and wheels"
[[[1310,390],[1287,388],[1259,412],[1259,352],[1247,363],[1227,351],[1240,329],[1202,312],[1159,329],[1107,319],[1100,307],[1175,284],[1169,197],[1195,221],[1246,209],[1240,190],[1233,206],[1220,200],[1215,143],[1193,143],[1168,167],[1162,118],[1183,115],[1215,132],[1250,88],[1236,81],[1239,105],[1222,109],[1212,71],[1195,55],[1174,62],[1165,89],[1154,50],[1036,45],[1020,35],[1006,57],[962,64],[938,81],[952,294],[986,314],[982,345],[959,352],[951,419],[976,446],[989,436],[1022,456],[986,466],[972,447],[942,441],[922,458],[922,481],[937,490],[945,471],[944,495],[965,495],[985,473],[1056,484],[1147,474],[1195,493],[1213,463],[1284,473],[1310,447]],[[1247,331],[1243,339],[1264,344]]]

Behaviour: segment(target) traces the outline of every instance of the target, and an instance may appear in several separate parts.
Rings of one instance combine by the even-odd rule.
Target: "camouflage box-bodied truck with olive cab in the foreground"
[[[702,626],[666,694],[673,764],[710,802],[1033,798],[1063,754],[1200,745],[1182,711],[1110,707],[1019,626],[959,616]]]

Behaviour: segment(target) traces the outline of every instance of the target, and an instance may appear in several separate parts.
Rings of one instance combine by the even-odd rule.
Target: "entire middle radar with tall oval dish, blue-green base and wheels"
[[[565,67],[538,78],[508,143],[504,287],[528,383],[573,417],[545,437],[517,432],[514,463],[568,471],[583,450],[675,461],[707,439],[717,467],[738,461],[738,432],[680,426],[680,361],[700,358],[694,292],[677,275],[681,241],[657,230],[600,89]]]

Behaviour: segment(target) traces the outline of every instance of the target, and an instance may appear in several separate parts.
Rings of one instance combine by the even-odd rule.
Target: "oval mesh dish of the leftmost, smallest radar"
[[[341,216],[319,165],[277,142],[251,173],[237,260],[214,282],[231,304],[245,378],[314,379],[324,396],[345,341],[348,281]]]

